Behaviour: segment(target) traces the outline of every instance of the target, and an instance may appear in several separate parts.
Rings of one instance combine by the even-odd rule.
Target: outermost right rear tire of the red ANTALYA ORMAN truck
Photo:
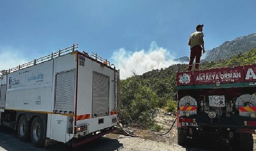
[[[253,150],[252,134],[240,133],[240,149],[241,149],[241,151],[252,151]]]

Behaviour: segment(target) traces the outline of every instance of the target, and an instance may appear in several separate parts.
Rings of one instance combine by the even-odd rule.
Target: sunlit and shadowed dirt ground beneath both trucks
[[[177,145],[176,130],[169,136],[143,136],[126,137],[118,134],[109,134],[105,137],[91,141],[88,144],[71,148],[63,143],[45,147],[35,148],[32,143],[21,142],[13,130],[0,128],[0,151],[224,151],[228,150],[223,145],[206,143],[201,146],[181,147]],[[154,138],[154,139],[149,139]],[[256,142],[255,142],[256,143]],[[254,143],[254,144],[255,144]],[[256,147],[254,147],[256,148]]]

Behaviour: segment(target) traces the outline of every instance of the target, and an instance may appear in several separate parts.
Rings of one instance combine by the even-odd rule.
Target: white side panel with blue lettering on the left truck
[[[6,109],[51,112],[53,60],[8,74]]]

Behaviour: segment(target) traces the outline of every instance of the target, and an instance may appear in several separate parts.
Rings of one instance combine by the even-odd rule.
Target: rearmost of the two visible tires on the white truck
[[[31,141],[35,147],[43,147],[44,139],[44,124],[40,117],[36,117],[31,125]]]

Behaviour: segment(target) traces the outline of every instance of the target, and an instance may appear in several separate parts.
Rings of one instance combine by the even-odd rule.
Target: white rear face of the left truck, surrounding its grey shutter
[[[85,66],[78,66],[78,89],[77,89],[77,115],[92,113],[92,87],[93,72],[97,72],[109,77],[109,112],[114,110],[114,70],[100,66],[99,63],[85,58]],[[99,119],[104,119],[103,123],[98,123]],[[112,123],[112,118],[117,115],[105,115],[93,117],[85,120],[78,120],[77,125],[89,124],[89,133],[116,125]]]

